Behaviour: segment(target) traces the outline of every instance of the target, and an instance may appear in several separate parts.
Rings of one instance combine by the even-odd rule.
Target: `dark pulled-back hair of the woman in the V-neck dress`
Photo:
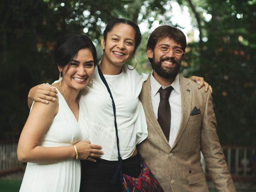
[[[75,32],[60,37],[54,50],[54,62],[64,67],[77,56],[79,50],[84,48],[92,52],[94,66],[96,66],[97,52],[94,44],[87,36]]]

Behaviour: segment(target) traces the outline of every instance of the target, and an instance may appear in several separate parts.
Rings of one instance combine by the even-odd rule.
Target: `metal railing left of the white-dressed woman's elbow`
[[[17,140],[0,141],[0,176],[23,168],[17,158],[17,146]]]

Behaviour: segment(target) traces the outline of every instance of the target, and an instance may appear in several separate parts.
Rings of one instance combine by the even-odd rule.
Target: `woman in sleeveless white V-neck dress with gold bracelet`
[[[62,74],[52,85],[58,98],[48,105],[34,102],[20,135],[18,159],[28,162],[20,192],[78,192],[79,159],[95,162],[103,154],[101,146],[82,141],[86,123],[76,99],[94,73],[92,41],[78,33],[64,35],[54,60]]]

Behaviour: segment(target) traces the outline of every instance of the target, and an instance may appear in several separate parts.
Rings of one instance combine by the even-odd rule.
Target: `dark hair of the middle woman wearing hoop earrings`
[[[103,32],[103,38],[104,41],[106,42],[106,38],[107,38],[107,34],[108,32],[110,32],[114,26],[124,23],[126,25],[130,25],[132,26],[132,28],[134,29],[135,32],[135,49],[134,52],[136,52],[136,49],[138,48],[138,46],[140,45],[141,42],[141,33],[140,33],[140,28],[138,27],[137,24],[135,24],[134,22],[130,21],[130,20],[126,20],[123,18],[114,18],[113,20],[111,20],[110,22],[108,22],[104,32]]]

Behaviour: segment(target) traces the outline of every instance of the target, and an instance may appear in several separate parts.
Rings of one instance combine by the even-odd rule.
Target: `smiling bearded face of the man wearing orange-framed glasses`
[[[167,46],[172,49],[182,49],[181,44],[168,37],[160,39],[156,43],[156,46]],[[170,50],[168,53],[165,53],[159,48],[154,48],[154,50],[148,48],[147,53],[148,58],[153,59],[151,64],[154,70],[154,74],[156,73],[156,75],[166,79],[176,77],[180,71],[182,55],[176,55],[172,50]]]

